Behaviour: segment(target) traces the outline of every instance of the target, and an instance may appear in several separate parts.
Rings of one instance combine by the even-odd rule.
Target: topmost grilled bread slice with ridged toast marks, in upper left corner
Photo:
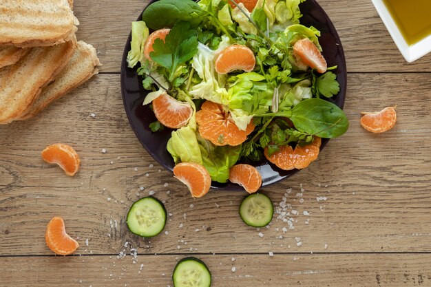
[[[0,45],[64,43],[72,40],[78,24],[68,0],[0,0]]]

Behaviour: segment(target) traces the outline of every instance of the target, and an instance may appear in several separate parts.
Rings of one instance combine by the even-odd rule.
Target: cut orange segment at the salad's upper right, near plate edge
[[[320,74],[328,70],[328,64],[324,56],[315,43],[308,38],[297,41],[295,45],[293,45],[293,53],[295,57],[301,59],[302,63],[309,65]]]

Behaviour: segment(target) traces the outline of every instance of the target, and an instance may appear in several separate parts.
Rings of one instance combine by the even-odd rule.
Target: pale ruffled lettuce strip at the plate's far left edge
[[[132,41],[131,49],[127,54],[127,63],[129,67],[134,67],[138,62],[143,62],[145,42],[149,36],[149,29],[144,21],[132,22]]]

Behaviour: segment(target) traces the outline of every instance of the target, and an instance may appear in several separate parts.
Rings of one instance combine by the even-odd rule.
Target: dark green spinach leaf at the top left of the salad
[[[172,28],[178,21],[199,25],[207,12],[192,0],[160,0],[152,3],[143,13],[143,21],[153,30]]]

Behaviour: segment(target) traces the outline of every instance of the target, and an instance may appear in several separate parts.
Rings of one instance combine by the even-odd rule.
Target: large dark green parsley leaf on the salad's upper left
[[[198,52],[196,30],[190,29],[190,23],[178,22],[167,34],[165,41],[154,41],[151,59],[169,71],[169,82],[174,81],[174,74],[179,65],[189,61]]]

